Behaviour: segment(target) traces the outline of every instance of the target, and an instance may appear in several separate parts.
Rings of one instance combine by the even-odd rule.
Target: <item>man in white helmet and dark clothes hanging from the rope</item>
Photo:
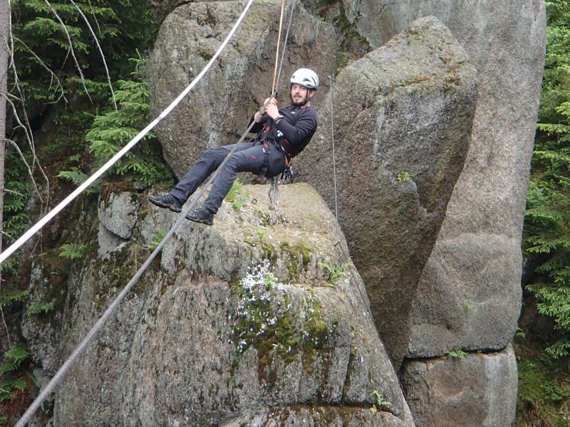
[[[317,88],[318,75],[313,70],[296,70],[290,80],[291,104],[279,108],[274,97],[266,99],[253,117],[255,124],[251,132],[257,132],[257,137],[252,142],[238,144],[237,147],[230,144],[207,149],[169,193],[149,196],[149,201],[161,208],[181,212],[182,204],[218,169],[233,149],[231,157],[214,179],[204,204],[186,216],[190,221],[211,226],[238,172],[253,172],[268,178],[277,176],[284,171],[290,159],[309,144],[318,125],[316,110],[311,106],[311,97]]]

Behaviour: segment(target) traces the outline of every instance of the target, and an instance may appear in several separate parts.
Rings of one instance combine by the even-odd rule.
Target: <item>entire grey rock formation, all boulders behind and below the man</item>
[[[180,3],[149,63],[154,115],[212,57],[245,4],[163,2]],[[303,3],[330,14],[321,21],[298,6],[282,70],[284,82],[308,65],[325,83],[321,127],[297,175],[333,206],[333,109],[338,219],[392,362],[407,357],[400,373],[418,425],[507,426],[517,375],[504,348],[519,309],[544,4]],[[279,6],[254,2],[214,68],[157,128],[177,176],[203,149],[234,142],[269,93]],[[368,41],[375,51],[343,68],[338,33],[343,48],[353,40],[361,53]],[[343,70],[331,104],[335,66]],[[266,187],[248,191],[246,205],[224,204],[212,228],[177,231],[58,388],[56,425],[414,425],[356,269],[326,283],[348,249],[321,199],[285,186],[279,210],[268,211]],[[57,302],[51,321],[22,327],[48,373],[175,216],[117,192],[100,202],[99,218],[83,265],[55,268],[56,254],[56,274],[44,268],[31,283],[32,300]],[[473,353],[444,357],[459,348]]]

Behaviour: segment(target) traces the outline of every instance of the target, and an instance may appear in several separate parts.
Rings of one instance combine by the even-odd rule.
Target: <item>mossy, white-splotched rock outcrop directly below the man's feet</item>
[[[268,186],[244,189],[239,209],[224,202],[214,226],[177,230],[58,387],[56,425],[415,426],[321,197],[284,186],[272,211]],[[177,218],[140,204],[128,245],[105,263],[86,260],[64,353]],[[345,272],[331,284],[334,268]]]

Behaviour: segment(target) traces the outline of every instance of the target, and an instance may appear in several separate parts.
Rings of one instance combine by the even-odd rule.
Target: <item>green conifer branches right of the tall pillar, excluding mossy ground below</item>
[[[527,196],[524,251],[535,283],[527,286],[541,314],[559,331],[546,351],[570,354],[570,3],[547,1],[548,27],[532,180]]]

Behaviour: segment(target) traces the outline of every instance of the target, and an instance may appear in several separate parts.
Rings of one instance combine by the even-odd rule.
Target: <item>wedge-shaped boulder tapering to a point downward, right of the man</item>
[[[415,289],[470,147],[476,71],[450,31],[427,17],[336,80],[338,221],[399,366]],[[328,102],[297,164],[333,204],[330,110]]]

